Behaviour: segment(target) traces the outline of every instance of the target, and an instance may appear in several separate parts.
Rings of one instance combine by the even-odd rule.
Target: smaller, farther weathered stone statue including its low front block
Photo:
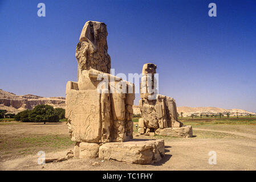
[[[178,121],[176,102],[173,98],[157,94],[155,79],[156,65],[143,65],[140,85],[139,133],[146,135],[163,134],[161,129],[172,130],[174,137],[192,137],[192,127]],[[160,132],[161,131],[161,132]],[[164,130],[166,131],[166,130]]]

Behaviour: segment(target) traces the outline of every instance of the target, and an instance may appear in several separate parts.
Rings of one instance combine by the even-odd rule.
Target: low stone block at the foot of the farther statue
[[[157,135],[168,136],[168,137],[193,137],[192,126],[182,127],[167,127],[165,129],[157,129],[155,131]]]

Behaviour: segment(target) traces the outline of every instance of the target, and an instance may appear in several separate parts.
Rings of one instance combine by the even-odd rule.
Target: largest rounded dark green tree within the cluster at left
[[[29,113],[29,120],[32,122],[58,122],[59,116],[55,113],[54,107],[49,105],[37,105]]]

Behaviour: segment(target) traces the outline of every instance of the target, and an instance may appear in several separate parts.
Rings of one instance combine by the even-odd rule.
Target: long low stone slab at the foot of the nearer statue
[[[152,164],[164,158],[164,140],[104,143],[99,158],[134,164]]]

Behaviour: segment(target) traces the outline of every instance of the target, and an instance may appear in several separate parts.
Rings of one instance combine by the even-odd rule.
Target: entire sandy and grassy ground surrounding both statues
[[[137,119],[134,119],[136,125]],[[256,117],[182,118],[193,126],[192,138],[139,135],[135,140],[164,139],[165,157],[151,165],[100,159],[69,159],[37,163],[38,151],[47,158],[64,157],[73,150],[66,122],[0,122],[0,170],[256,170]],[[134,127],[137,135],[136,127]],[[217,164],[209,164],[210,151]],[[99,162],[99,165],[92,164]]]

